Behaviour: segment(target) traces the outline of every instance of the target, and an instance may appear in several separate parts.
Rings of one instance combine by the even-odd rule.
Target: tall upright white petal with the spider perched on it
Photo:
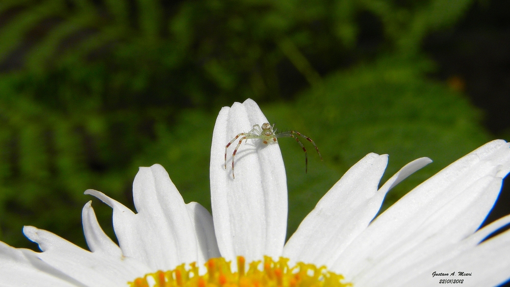
[[[287,178],[276,142],[244,141],[232,164],[224,168],[225,145],[254,124],[268,122],[251,99],[223,108],[211,147],[211,205],[220,253],[227,260],[243,255],[249,262],[263,255],[280,256],[287,228]],[[237,142],[237,141],[236,141]],[[232,160],[236,143],[228,149]]]

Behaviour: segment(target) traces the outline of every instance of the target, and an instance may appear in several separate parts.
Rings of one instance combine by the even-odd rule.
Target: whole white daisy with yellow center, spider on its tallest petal
[[[287,185],[277,143],[249,140],[237,153],[236,178],[224,169],[225,144],[264,122],[249,99],[219,113],[211,148],[212,217],[200,204],[184,203],[163,167],[140,168],[133,184],[137,214],[86,191],[113,208],[120,247],[101,230],[88,202],[82,216],[91,252],[24,227],[43,252],[0,243],[0,286],[430,286],[442,279],[495,286],[510,278],[510,231],[483,241],[510,216],[477,230],[510,171],[508,143],[476,149],[376,219],[385,194],[430,160],[407,164],[377,189],[388,156],[368,154],[285,244]],[[245,268],[245,260],[254,263]],[[233,271],[226,261],[237,263]]]

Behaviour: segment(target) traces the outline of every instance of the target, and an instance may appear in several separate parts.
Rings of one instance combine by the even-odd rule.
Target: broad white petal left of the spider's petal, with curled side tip
[[[122,253],[154,270],[171,270],[198,259],[197,239],[186,204],[160,165],[140,168],[133,182],[138,214],[103,193],[87,190],[113,208]]]

